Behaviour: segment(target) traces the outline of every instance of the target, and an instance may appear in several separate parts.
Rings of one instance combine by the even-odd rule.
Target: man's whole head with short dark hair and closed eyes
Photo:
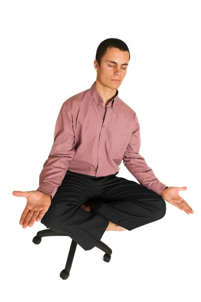
[[[130,52],[125,42],[109,38],[98,45],[94,68],[97,71],[96,82],[111,89],[118,89],[127,72]],[[118,79],[119,82],[112,80]]]

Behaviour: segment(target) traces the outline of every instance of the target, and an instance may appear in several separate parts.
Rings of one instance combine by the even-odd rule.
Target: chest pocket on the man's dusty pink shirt
[[[116,160],[123,159],[129,140],[130,140],[129,135],[112,131],[108,140],[109,154],[112,157],[112,159],[116,159]]]

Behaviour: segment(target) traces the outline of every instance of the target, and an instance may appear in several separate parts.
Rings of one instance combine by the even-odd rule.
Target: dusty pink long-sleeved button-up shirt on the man
[[[141,185],[160,194],[166,185],[147,166],[139,150],[140,125],[135,111],[120,99],[118,90],[105,108],[94,82],[90,89],[62,104],[37,190],[52,199],[67,170],[107,176],[117,173],[123,160]]]

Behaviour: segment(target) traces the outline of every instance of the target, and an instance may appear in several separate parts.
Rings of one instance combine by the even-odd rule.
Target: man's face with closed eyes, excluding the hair
[[[128,51],[122,51],[115,47],[108,48],[101,60],[100,66],[98,65],[98,62],[94,60],[94,68],[97,71],[96,81],[111,89],[118,89],[126,75],[128,63]],[[112,81],[115,79],[120,81]]]

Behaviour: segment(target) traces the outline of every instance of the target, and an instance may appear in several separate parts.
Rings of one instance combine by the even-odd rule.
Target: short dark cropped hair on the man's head
[[[116,47],[116,48],[119,48],[120,50],[128,51],[129,52],[129,61],[130,61],[130,51],[129,51],[129,48],[126,45],[126,43],[120,39],[109,38],[109,39],[102,41],[98,45],[98,48],[96,50],[95,59],[98,62],[99,66],[100,66],[100,61],[101,61],[102,57],[106,54],[108,47],[110,47],[110,48]]]

